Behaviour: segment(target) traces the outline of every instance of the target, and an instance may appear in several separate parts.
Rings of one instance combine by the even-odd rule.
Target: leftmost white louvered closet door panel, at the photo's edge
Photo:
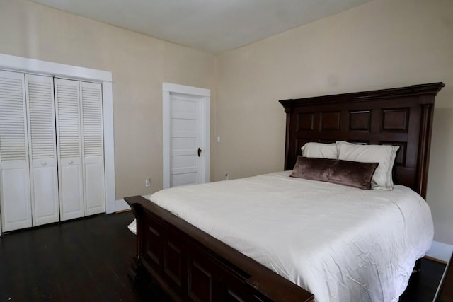
[[[3,231],[32,226],[24,74],[0,71],[0,205]]]

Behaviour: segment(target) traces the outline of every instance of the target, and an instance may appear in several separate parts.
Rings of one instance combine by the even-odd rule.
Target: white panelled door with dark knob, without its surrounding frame
[[[170,187],[201,183],[202,102],[196,95],[170,94]]]

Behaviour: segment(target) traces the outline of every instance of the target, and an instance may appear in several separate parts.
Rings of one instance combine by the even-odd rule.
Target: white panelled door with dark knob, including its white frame
[[[164,187],[209,182],[210,91],[164,83]]]

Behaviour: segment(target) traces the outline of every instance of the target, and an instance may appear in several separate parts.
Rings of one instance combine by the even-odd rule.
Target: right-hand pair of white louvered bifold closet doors
[[[105,211],[102,86],[55,79],[60,219]]]

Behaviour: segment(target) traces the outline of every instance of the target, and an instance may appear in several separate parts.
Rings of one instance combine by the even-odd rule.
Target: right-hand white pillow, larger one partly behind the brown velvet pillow
[[[393,190],[394,182],[391,171],[394,167],[396,151],[399,146],[361,145],[337,141],[338,159],[359,161],[362,163],[379,163],[374,171],[371,187],[374,190]]]

